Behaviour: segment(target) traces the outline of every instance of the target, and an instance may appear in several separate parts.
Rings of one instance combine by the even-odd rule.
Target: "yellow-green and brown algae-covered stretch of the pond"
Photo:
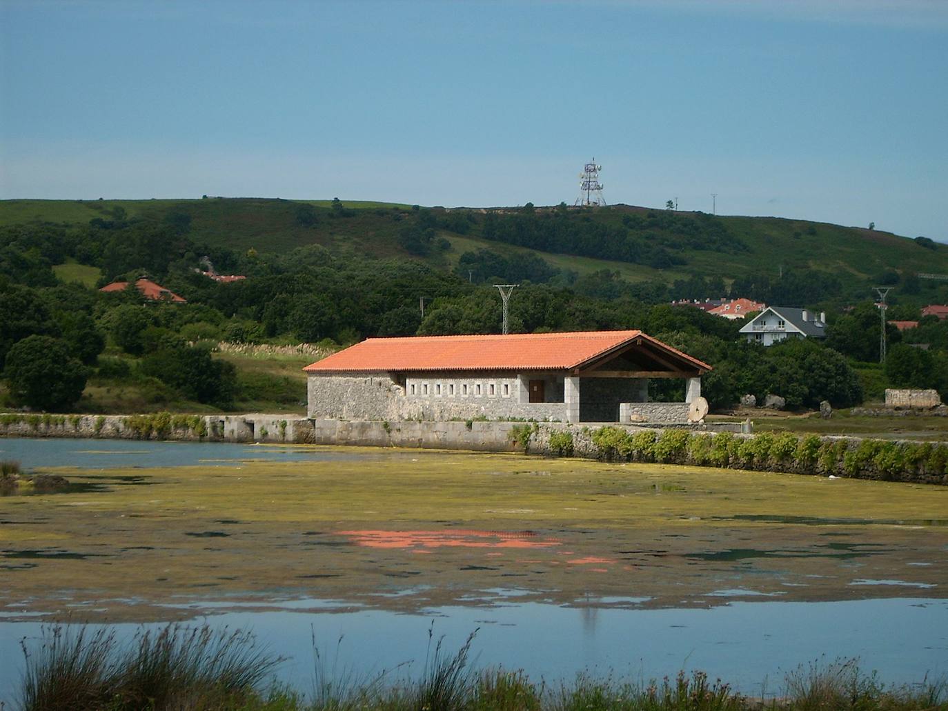
[[[0,498],[0,611],[117,621],[287,600],[417,610],[498,591],[675,608],[948,593],[948,488],[368,451],[48,468],[64,492]]]

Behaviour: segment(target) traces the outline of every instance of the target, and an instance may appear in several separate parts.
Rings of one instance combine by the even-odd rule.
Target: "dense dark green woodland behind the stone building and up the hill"
[[[309,225],[345,220],[350,212],[341,204],[328,212],[303,206],[296,219]],[[646,235],[652,233],[656,245],[678,239],[692,247],[701,242],[741,248],[708,215],[659,211],[595,223],[581,211],[539,212],[532,206],[483,216],[465,210],[418,209],[406,214],[403,246],[429,254],[442,249],[439,229],[450,223],[452,231],[461,232],[477,227],[479,220],[496,242],[535,246],[543,236],[543,249],[591,256],[608,256],[603,250],[631,243],[651,244]],[[872,361],[878,356],[879,315],[871,303],[848,314],[832,314],[825,344],[790,342],[765,349],[738,337],[741,321],[667,304],[672,298],[722,296],[725,284],[720,277],[695,276],[671,287],[629,283],[617,272],[579,274],[537,255],[501,248],[466,252],[453,271],[418,260],[377,259],[343,247],[311,245],[261,255],[252,249],[203,246],[191,238],[190,230],[184,212],[127,219],[120,209],[103,212],[82,228],[30,225],[0,230],[0,297],[5,304],[0,313],[0,364],[6,367],[11,403],[64,409],[82,392],[85,378],[94,377],[138,378],[150,384],[155,397],[173,392],[227,407],[235,396],[236,374],[210,356],[209,346],[217,340],[347,344],[372,336],[497,333],[501,301],[490,285],[495,280],[520,283],[510,303],[515,332],[640,328],[711,363],[715,370],[705,377],[704,392],[717,408],[733,405],[747,392],[760,398],[780,394],[792,407],[815,407],[822,399],[837,407],[851,405],[862,399],[862,391],[847,358]],[[672,232],[678,236],[667,237]],[[247,279],[211,281],[195,271],[204,255],[220,271],[245,274]],[[69,258],[99,267],[102,283],[148,274],[188,302],[148,302],[134,287],[102,294],[64,284],[52,265]],[[811,307],[839,291],[834,278],[809,271],[731,284],[732,294]],[[916,336],[932,345],[931,353],[903,350],[898,332],[890,334],[893,383],[948,387],[930,376],[939,369],[948,372],[939,350],[948,348],[945,325],[928,319],[916,329]],[[31,385],[43,378],[61,383],[50,389],[55,393],[52,400],[38,397]],[[669,391],[673,387],[681,384],[655,382],[653,395],[677,397]]]

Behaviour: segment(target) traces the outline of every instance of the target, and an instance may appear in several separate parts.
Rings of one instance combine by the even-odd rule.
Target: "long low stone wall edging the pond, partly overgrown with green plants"
[[[529,452],[669,465],[948,484],[948,444],[857,437],[757,435],[714,426],[487,422],[346,421],[283,415],[0,414],[0,436],[301,443]]]

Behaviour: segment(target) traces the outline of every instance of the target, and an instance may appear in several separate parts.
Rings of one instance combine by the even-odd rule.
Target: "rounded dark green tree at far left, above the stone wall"
[[[10,395],[40,410],[62,410],[82,396],[88,371],[60,338],[29,336],[7,354],[4,377]]]

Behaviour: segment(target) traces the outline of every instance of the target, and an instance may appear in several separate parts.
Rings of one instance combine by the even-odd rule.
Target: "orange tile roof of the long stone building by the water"
[[[587,365],[641,338],[686,365],[711,366],[641,331],[581,331],[509,336],[413,336],[368,338],[303,368],[307,373],[408,371],[559,371]]]

